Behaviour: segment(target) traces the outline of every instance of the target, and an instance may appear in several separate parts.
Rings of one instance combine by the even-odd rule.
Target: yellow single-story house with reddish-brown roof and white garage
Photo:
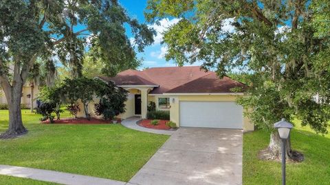
[[[154,101],[157,110],[170,111],[170,120],[179,127],[254,130],[254,125],[243,115],[243,107],[235,103],[243,93],[231,91],[232,88],[245,90],[248,86],[229,77],[219,79],[214,72],[203,71],[200,66],[126,70],[115,77],[99,78],[129,91],[121,119],[130,116],[146,119],[148,102]],[[78,113],[83,115],[83,110]]]

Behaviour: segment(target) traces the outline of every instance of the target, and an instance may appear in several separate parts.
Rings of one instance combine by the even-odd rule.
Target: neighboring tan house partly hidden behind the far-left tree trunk
[[[39,86],[34,86],[33,90],[33,103],[34,103],[34,108],[36,108],[36,97],[39,93]],[[22,97],[21,97],[21,103],[24,104],[26,107],[31,108],[31,86],[30,84],[25,84],[23,86],[23,91],[22,91]],[[7,104],[7,99],[5,98],[5,93],[3,90],[0,90],[0,103],[5,103]]]

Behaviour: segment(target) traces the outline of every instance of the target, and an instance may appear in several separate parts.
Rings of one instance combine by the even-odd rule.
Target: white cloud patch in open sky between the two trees
[[[163,34],[164,32],[168,29],[168,27],[175,25],[180,21],[179,18],[173,18],[173,19],[168,19],[168,18],[163,18],[162,20],[159,21],[159,25],[153,24],[153,25],[148,25],[148,27],[151,27],[155,29],[157,32],[157,35],[153,38],[155,40],[155,44],[159,44],[163,40]]]

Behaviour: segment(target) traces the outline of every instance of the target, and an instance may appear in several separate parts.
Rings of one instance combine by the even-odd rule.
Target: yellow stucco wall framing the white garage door
[[[236,101],[236,95],[181,95],[170,96],[170,121],[179,123],[179,101]],[[173,101],[174,99],[174,101]],[[243,130],[244,132],[254,130],[254,125],[250,123],[248,117],[243,116]]]

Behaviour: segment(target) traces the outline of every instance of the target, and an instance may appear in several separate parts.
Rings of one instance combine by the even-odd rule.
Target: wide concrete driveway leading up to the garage
[[[180,128],[129,181],[242,184],[243,130]]]

